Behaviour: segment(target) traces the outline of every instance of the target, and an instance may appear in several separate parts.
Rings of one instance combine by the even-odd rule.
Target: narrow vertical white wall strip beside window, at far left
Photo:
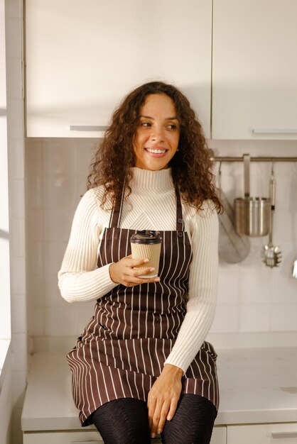
[[[26,388],[26,253],[23,123],[23,1],[5,0],[9,235],[11,259],[11,358],[0,415],[11,421],[12,443],[21,444],[21,409]],[[3,405],[6,411],[3,411]],[[12,411],[11,411],[12,409]],[[2,437],[1,437],[2,438]],[[8,443],[7,443],[8,444]],[[9,442],[10,444],[10,442]]]

